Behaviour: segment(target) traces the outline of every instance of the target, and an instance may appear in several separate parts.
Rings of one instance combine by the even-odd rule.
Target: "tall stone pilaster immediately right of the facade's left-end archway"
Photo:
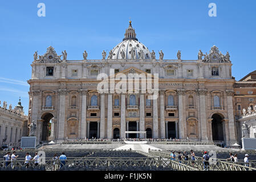
[[[64,125],[65,125],[65,106],[66,106],[66,89],[59,90],[59,136],[58,140],[64,140]]]

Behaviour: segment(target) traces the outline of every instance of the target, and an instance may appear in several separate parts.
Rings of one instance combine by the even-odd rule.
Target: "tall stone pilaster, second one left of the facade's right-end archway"
[[[184,123],[185,123],[185,119],[186,117],[184,117],[184,105],[183,105],[183,95],[184,90],[177,90],[178,92],[178,138],[180,139],[184,139],[185,138],[185,133],[184,133]]]

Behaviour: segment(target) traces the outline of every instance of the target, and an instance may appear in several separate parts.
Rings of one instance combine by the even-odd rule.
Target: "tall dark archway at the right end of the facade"
[[[224,141],[224,130],[222,125],[223,118],[220,114],[213,114],[212,119],[213,140]]]

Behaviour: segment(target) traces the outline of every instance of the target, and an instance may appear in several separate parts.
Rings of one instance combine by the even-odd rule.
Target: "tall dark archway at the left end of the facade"
[[[42,115],[43,123],[42,123],[42,135],[41,141],[48,141],[48,137],[51,136],[51,119],[54,118],[54,115],[51,113],[45,113]]]

